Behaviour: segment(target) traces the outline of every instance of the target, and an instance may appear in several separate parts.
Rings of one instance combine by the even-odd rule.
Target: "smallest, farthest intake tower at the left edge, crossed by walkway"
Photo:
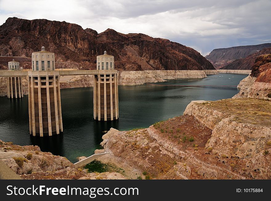
[[[20,64],[14,59],[8,62],[8,70],[20,71]],[[8,98],[22,98],[22,77],[7,77],[6,78],[6,91]]]

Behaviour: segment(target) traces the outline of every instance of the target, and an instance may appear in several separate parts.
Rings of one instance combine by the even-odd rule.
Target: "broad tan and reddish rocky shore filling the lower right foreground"
[[[183,116],[149,128],[111,128],[95,152],[144,179],[271,179],[270,117],[270,101],[192,101]]]

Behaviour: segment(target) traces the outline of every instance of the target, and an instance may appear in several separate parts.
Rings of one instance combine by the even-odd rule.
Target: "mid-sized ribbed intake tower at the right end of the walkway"
[[[114,56],[104,51],[103,55],[97,56],[97,70],[94,75],[93,87],[93,114],[94,119],[110,121],[119,118],[119,97],[117,73],[114,70]]]

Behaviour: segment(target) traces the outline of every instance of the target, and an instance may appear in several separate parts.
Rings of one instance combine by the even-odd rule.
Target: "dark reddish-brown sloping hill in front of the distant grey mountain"
[[[250,54],[245,58],[234,60],[232,63],[225,65],[220,69],[250,70],[252,69],[255,63],[256,58],[265,54],[271,54],[271,48],[264,48],[261,51],[254,54]]]

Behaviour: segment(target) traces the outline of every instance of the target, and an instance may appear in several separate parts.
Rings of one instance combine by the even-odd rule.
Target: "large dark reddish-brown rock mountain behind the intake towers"
[[[112,29],[98,34],[77,24],[15,17],[0,26],[1,56],[31,57],[41,46],[55,53],[58,68],[95,69],[96,56],[106,50],[115,57],[119,70],[214,69],[196,50],[145,34],[121,34]]]

